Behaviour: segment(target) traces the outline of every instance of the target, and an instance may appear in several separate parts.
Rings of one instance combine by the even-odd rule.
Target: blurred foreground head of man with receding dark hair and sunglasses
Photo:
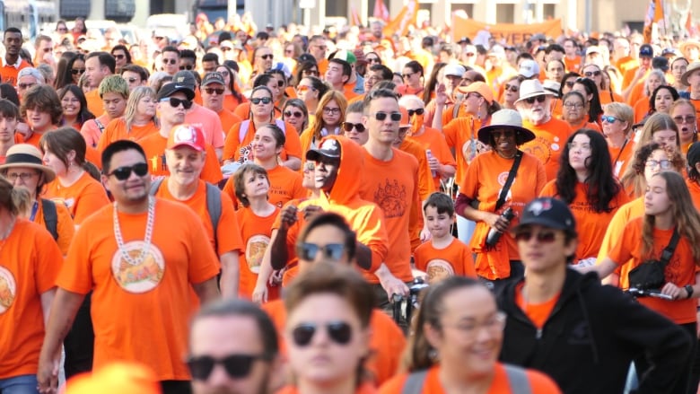
[[[279,342],[272,320],[244,300],[213,302],[189,330],[194,394],[268,394],[280,376]]]

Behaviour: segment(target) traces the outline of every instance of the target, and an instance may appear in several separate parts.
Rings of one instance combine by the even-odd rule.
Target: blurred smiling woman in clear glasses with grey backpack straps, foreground
[[[506,315],[486,285],[451,276],[424,292],[408,342],[407,371],[384,383],[380,394],[561,393],[541,372],[498,362]],[[513,386],[516,375],[519,383]]]

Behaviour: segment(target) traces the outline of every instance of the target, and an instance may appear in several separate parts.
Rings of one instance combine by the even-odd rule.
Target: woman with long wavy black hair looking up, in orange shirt
[[[579,234],[573,264],[594,265],[608,223],[628,201],[613,176],[608,144],[598,130],[582,128],[569,137],[556,179],[545,185],[540,197],[557,197],[569,206]]]

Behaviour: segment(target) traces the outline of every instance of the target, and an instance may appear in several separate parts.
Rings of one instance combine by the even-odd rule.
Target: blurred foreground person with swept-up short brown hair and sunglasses
[[[337,263],[315,263],[284,293],[284,342],[294,383],[281,394],[369,394],[374,293],[358,272]]]

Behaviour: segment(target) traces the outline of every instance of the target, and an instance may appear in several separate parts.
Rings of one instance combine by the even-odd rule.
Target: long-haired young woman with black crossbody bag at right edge
[[[697,297],[700,295],[700,273],[696,266],[696,261],[700,260],[700,214],[695,209],[688,209],[691,206],[693,201],[686,182],[678,172],[654,174],[644,195],[643,216],[626,224],[608,256],[594,267],[598,275],[604,278],[622,265],[635,268],[649,264],[650,260],[655,260],[652,264],[660,264],[658,260],[662,251],[669,246],[672,238],[678,237],[669,263],[663,268],[661,288],[654,289],[669,299],[638,299],[695,338],[690,353],[691,362],[686,363],[679,372],[676,384],[664,390],[678,394],[695,393],[700,380],[697,372],[692,370],[697,349]],[[644,356],[639,357],[634,365],[640,376],[650,367]]]

